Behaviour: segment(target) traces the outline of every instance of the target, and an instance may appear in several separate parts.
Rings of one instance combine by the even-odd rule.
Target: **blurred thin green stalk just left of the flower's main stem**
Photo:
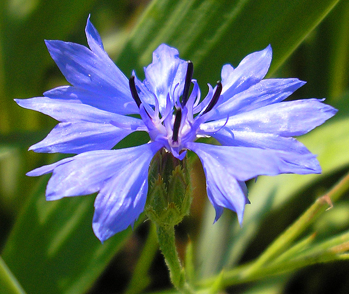
[[[142,293],[143,290],[150,285],[151,280],[148,276],[148,271],[158,248],[159,244],[156,237],[156,227],[153,223],[151,223],[147,241],[144,245],[140,258],[138,259],[135,271],[129,286],[125,291],[125,294]]]

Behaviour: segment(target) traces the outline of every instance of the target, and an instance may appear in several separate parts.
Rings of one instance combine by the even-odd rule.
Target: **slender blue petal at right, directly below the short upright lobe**
[[[211,118],[218,119],[236,115],[280,102],[289,97],[306,82],[298,79],[267,79],[233,96],[216,108]]]

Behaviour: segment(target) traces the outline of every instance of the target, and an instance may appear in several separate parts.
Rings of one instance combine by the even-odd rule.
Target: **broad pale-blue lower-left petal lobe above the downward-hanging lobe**
[[[125,149],[96,150],[78,154],[69,162],[54,167],[47,184],[46,199],[89,195],[100,191],[109,181],[125,173],[134,172],[128,177],[123,176],[123,185],[127,181],[133,183],[137,181],[137,173],[141,174],[143,169],[144,173],[148,174],[150,160],[161,147],[162,145],[154,142]],[[122,191],[126,193],[126,190]]]

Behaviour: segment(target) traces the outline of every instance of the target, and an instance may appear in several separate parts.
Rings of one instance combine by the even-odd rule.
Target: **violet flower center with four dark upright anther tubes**
[[[162,142],[177,158],[181,157],[180,152],[183,148],[185,149],[185,143],[195,140],[200,124],[204,123],[210,117],[210,114],[205,114],[217,104],[222,92],[222,83],[218,81],[214,93],[212,87],[209,86],[210,90],[206,98],[200,102],[200,91],[196,81],[192,80],[192,76],[193,64],[191,61],[187,61],[181,98],[180,93],[176,90],[179,86],[177,84],[171,90],[173,91],[171,93],[172,96],[170,93],[167,95],[166,109],[162,108],[161,111],[159,111],[159,100],[156,95],[152,93],[155,98],[155,105],[148,104],[148,102],[139,96],[136,86],[138,80],[135,80],[135,76],[131,76],[129,79],[132,98],[140,109],[140,115],[148,128],[151,140]],[[189,95],[192,83],[194,86]],[[141,91],[141,95],[142,91],[148,91],[146,88],[138,90]]]

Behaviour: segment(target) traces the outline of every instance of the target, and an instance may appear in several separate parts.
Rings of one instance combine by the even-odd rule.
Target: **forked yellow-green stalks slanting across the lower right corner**
[[[332,200],[337,200],[349,189],[349,173],[342,178],[327,194],[319,197],[288,229],[286,229],[255,261],[242,266],[238,266],[230,271],[224,272],[221,278],[222,287],[233,286],[236,284],[257,281],[262,278],[278,276],[280,274],[290,273],[305,266],[316,263],[325,263],[336,260],[348,260],[349,254],[342,252],[349,250],[349,233],[336,236],[327,240],[311,251],[305,251],[304,254],[290,260],[284,257],[290,256],[290,253],[298,251],[299,244],[285,251],[292,242],[309,227],[316,216],[332,207]],[[312,236],[302,241],[303,245],[309,244]],[[281,255],[281,254],[285,255]],[[280,256],[280,259],[277,258]],[[282,257],[282,258],[281,258]],[[272,263],[270,263],[272,261]],[[280,262],[274,262],[280,261]],[[197,283],[200,289],[210,289],[217,281],[218,276],[204,279]]]

